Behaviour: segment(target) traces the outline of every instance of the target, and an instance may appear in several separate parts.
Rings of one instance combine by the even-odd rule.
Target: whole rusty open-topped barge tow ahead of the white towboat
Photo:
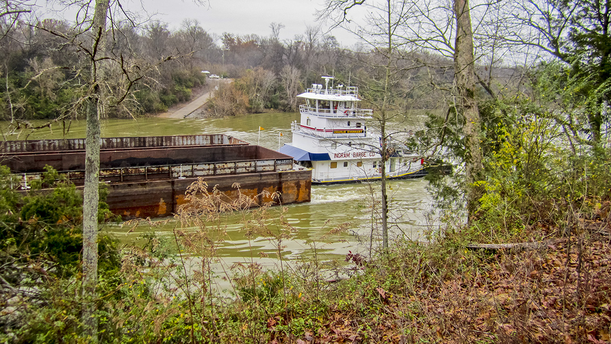
[[[84,139],[4,141],[2,165],[22,176],[23,185],[53,166],[77,187],[85,175]],[[185,192],[202,177],[233,198],[279,192],[280,203],[310,201],[312,171],[297,169],[285,154],[227,135],[102,138],[100,182],[108,185],[107,203],[123,218],[174,214]],[[273,201],[258,196],[258,204]]]

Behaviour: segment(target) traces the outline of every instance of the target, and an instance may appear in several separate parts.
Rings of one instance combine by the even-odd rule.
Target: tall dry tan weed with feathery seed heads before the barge
[[[219,335],[219,328],[216,323],[219,312],[215,302],[221,301],[220,295],[215,295],[213,290],[214,274],[213,264],[219,262],[217,250],[221,247],[226,237],[226,229],[229,225],[224,214],[240,214],[241,230],[249,241],[251,247],[251,259],[249,264],[235,264],[232,269],[243,269],[246,276],[247,285],[256,290],[257,278],[265,274],[260,264],[255,261],[257,255],[254,253],[252,241],[255,237],[265,237],[274,244],[276,248],[277,258],[280,261],[280,274],[283,276],[284,283],[284,263],[282,258],[282,250],[284,245],[282,242],[291,237],[295,228],[290,226],[285,220],[287,208],[283,207],[280,214],[272,215],[269,213],[269,208],[274,204],[274,201],[279,203],[279,193],[269,193],[263,191],[257,195],[245,195],[240,190],[240,184],[232,185],[235,192],[223,193],[217,189],[216,185],[210,190],[207,182],[199,178],[196,182],[189,185],[185,204],[178,209],[177,219],[180,221],[180,229],[175,230],[175,241],[179,247],[184,250],[180,251],[180,260],[183,266],[186,266],[192,257],[188,257],[186,252],[192,256],[197,256],[201,262],[197,269],[192,269],[191,277],[187,277],[189,272],[184,268],[185,275],[185,294],[189,301],[189,312],[191,318],[200,323],[202,329],[202,337],[207,337],[211,342],[216,340]],[[257,204],[257,200],[271,199],[273,201]],[[256,206],[257,208],[254,208]],[[264,252],[260,252],[266,255]],[[224,271],[224,279],[232,283],[233,293],[239,294],[234,278],[228,271]],[[284,285],[283,285],[284,286]],[[285,288],[283,288],[285,289]],[[199,304],[196,305],[196,300]],[[218,300],[218,302],[217,302]],[[255,304],[258,310],[264,310],[260,299],[255,297]],[[258,315],[257,315],[258,314]],[[244,317],[241,321],[245,324],[241,327],[245,338],[262,338],[263,332],[258,326],[248,326],[247,324],[253,321],[261,321],[266,319],[265,310],[255,313],[255,318]],[[243,315],[239,315],[242,317]],[[251,315],[252,316],[252,315]],[[204,333],[206,329],[207,333]],[[194,334],[191,335],[195,337]]]

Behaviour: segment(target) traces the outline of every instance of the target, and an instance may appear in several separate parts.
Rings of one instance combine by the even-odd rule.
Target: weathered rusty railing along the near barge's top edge
[[[182,165],[157,165],[139,167],[101,168],[100,182],[138,182],[155,180],[173,180],[197,178],[204,176],[221,176],[227,174],[246,174],[260,172],[282,172],[293,170],[293,159],[257,159],[232,162],[185,163]],[[65,178],[75,185],[83,185],[85,171],[60,171],[60,178]],[[35,179],[41,179],[42,173],[15,174],[21,182],[15,185],[18,189],[29,189]]]

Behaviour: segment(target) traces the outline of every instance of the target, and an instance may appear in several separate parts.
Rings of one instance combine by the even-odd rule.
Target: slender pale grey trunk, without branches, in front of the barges
[[[97,0],[91,28],[93,43],[91,58],[91,84],[93,94],[87,101],[87,137],[85,153],[85,185],[83,192],[82,220],[82,323],[84,335],[90,343],[98,342],[98,320],[95,317],[96,285],[98,280],[98,203],[100,195],[100,114],[103,112],[104,45],[106,35],[106,13],[109,0]]]

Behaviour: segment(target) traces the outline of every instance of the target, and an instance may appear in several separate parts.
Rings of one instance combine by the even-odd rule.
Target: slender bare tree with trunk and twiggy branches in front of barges
[[[71,111],[86,114],[86,162],[83,192],[83,258],[82,258],[82,296],[84,309],[82,323],[84,333],[90,342],[98,342],[98,321],[95,315],[97,299],[98,270],[98,206],[100,178],[100,118],[108,108],[125,106],[131,99],[133,86],[145,77],[147,72],[156,69],[159,63],[174,58],[157,51],[159,59],[152,64],[136,62],[136,54],[126,47],[115,46],[117,37],[128,38],[122,34],[119,18],[133,23],[132,13],[126,12],[118,0],[96,0],[82,3],[79,13],[92,13],[89,17],[78,17],[75,28],[69,33],[46,28],[44,23],[38,29],[49,32],[64,40],[64,45],[74,47],[81,57],[80,65],[74,71],[77,77],[73,82],[79,84],[81,97],[71,105]],[[115,7],[113,10],[112,7]],[[109,20],[111,19],[111,20]],[[110,26],[110,29],[109,29]],[[155,26],[163,34],[163,26]],[[157,31],[155,31],[157,32]],[[108,39],[112,38],[109,42]],[[108,49],[108,47],[116,49]],[[128,110],[129,111],[129,110]]]

